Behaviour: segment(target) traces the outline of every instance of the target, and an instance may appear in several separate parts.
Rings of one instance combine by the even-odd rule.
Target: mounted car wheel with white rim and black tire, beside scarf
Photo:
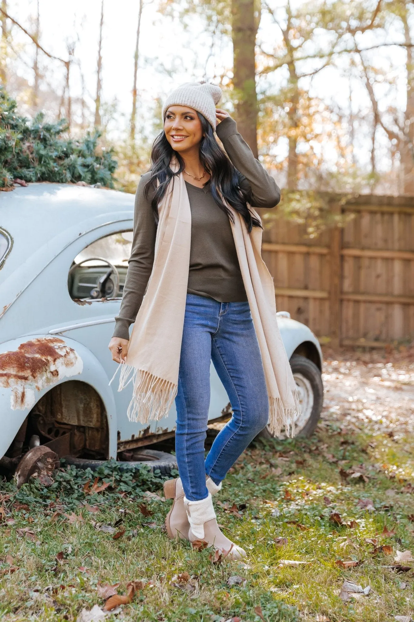
[[[322,411],[322,375],[315,363],[305,358],[305,356],[294,355],[289,362],[300,403],[300,415],[295,419],[295,436],[309,437],[312,436],[313,430],[317,427]],[[268,425],[259,432],[258,436],[263,439],[275,438],[269,431]],[[282,432],[277,438],[286,439],[286,434]]]

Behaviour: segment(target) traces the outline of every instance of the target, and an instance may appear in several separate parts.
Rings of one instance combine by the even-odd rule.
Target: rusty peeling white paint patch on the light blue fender
[[[0,354],[0,386],[12,389],[10,403],[14,411],[29,409],[36,402],[35,391],[76,376],[82,369],[82,359],[65,341],[37,338]]]

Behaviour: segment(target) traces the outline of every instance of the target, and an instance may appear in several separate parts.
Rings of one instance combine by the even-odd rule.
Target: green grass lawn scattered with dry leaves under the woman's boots
[[[393,439],[386,432],[370,434],[369,425],[348,430],[328,417],[312,439],[251,445],[217,497],[229,506],[241,506],[241,518],[216,506],[225,532],[248,552],[248,567],[213,564],[208,550],[169,541],[162,526],[170,502],[144,497],[147,490],[162,494],[162,478],[145,469],[132,477],[110,466],[100,474],[111,486],[92,495],[83,492],[91,473],[68,467],[48,489],[34,481],[16,491],[4,482],[0,618],[76,620],[83,608],[104,605],[97,595],[98,582],[120,582],[118,591],[125,593],[130,580],[145,580],[147,585],[132,604],[123,606],[125,621],[224,622],[236,617],[259,622],[258,606],[268,622],[317,620],[317,615],[331,622],[381,622],[412,615],[413,572],[398,573],[390,566],[396,550],[414,554],[414,524],[408,518],[414,514],[413,494],[403,491],[414,480],[413,450],[410,435]],[[341,477],[340,468],[352,470],[361,464],[367,482]],[[359,499],[366,498],[375,511],[358,506]],[[99,512],[82,509],[84,501],[97,504]],[[140,511],[143,502],[152,516]],[[30,510],[17,510],[14,503],[27,503]],[[74,511],[83,521],[70,522],[63,514],[51,521],[56,511]],[[331,513],[358,526],[340,526],[331,521]],[[10,518],[16,522],[7,522]],[[115,529],[125,532],[116,540],[94,525],[114,526],[120,519]],[[302,529],[287,521],[297,521]],[[151,523],[156,526],[148,526]],[[395,534],[378,535],[385,525]],[[17,531],[25,527],[34,532],[32,539]],[[287,543],[278,545],[279,537]],[[393,554],[373,555],[366,538],[377,538],[377,546],[391,545]],[[56,562],[60,552],[63,563]],[[13,573],[7,555],[16,568]],[[281,565],[281,560],[308,564],[292,567]],[[343,569],[335,564],[338,560],[361,564]],[[173,578],[182,572],[189,573],[188,584]],[[243,577],[245,584],[230,588],[228,579],[234,575]],[[369,585],[371,592],[344,603],[339,596],[344,580],[362,588]]]

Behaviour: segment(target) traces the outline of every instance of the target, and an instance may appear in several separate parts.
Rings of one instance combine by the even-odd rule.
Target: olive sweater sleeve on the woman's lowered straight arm
[[[148,177],[148,174],[142,175],[135,194],[131,256],[128,259],[124,293],[112,335],[122,339],[129,339],[129,327],[137,317],[154,263],[156,223],[151,208],[151,196],[146,198],[144,195]]]

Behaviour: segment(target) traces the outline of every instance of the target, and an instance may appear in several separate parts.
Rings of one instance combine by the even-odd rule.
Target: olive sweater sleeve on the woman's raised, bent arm
[[[218,123],[216,134],[236,169],[245,179],[241,185],[251,193],[252,207],[271,208],[281,200],[281,191],[275,180],[256,160],[248,144],[237,131],[234,119],[227,117]]]

